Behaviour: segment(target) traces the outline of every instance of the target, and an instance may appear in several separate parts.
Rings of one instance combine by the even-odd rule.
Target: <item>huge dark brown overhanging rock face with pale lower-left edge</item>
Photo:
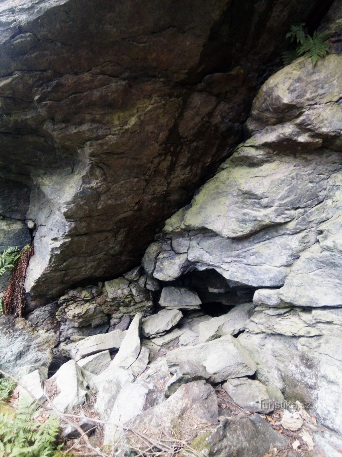
[[[136,265],[242,139],[290,25],[330,3],[1,2],[0,213],[6,245],[34,227],[27,292]]]

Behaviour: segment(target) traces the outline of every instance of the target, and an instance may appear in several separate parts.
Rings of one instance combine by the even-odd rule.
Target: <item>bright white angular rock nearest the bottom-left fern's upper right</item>
[[[53,394],[52,404],[62,413],[71,412],[81,406],[86,399],[86,384],[81,368],[74,360],[64,363],[59,370],[45,382],[47,395]]]

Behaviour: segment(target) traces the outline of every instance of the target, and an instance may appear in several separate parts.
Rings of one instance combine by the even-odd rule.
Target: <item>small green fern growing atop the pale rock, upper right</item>
[[[309,35],[305,24],[292,26],[286,38],[291,43],[296,43],[295,49],[290,49],[283,53],[285,65],[289,65],[295,58],[305,56],[311,58],[313,65],[316,65],[319,58],[324,58],[329,51],[330,44],[326,43],[328,35],[325,33],[314,32],[312,37]]]

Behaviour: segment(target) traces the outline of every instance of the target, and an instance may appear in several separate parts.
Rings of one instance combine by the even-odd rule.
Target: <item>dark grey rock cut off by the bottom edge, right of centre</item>
[[[224,420],[207,438],[210,457],[263,457],[270,449],[287,445],[259,414]]]

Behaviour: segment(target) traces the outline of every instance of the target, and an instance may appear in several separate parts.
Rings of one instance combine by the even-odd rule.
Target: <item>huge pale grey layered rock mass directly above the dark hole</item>
[[[188,270],[262,288],[256,304],[342,305],[341,65],[337,54],[315,67],[300,58],[265,82],[250,138],[166,221],[158,258],[177,237]]]

